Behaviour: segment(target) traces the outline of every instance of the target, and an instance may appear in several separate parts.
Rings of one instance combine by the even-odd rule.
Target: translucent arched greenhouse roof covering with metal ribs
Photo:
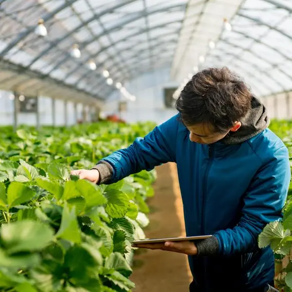
[[[2,0],[0,88],[104,101],[155,68],[182,82],[225,65],[256,94],[288,91],[291,12],[291,0]]]

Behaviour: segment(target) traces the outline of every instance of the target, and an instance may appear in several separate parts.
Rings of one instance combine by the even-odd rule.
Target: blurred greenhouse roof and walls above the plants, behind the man
[[[0,125],[159,124],[209,66],[291,117],[291,12],[291,0],[1,0]]]

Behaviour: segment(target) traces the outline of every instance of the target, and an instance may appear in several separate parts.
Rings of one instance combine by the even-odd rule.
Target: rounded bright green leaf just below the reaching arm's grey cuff
[[[117,190],[110,190],[105,194],[108,203],[106,206],[107,213],[112,218],[124,217],[128,211],[129,199],[128,196]]]

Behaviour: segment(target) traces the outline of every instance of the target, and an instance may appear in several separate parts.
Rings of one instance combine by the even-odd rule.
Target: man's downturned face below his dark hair
[[[197,124],[187,128],[190,131],[190,140],[200,144],[213,144],[223,139],[229,133],[229,131],[232,130],[230,129],[226,131],[226,133],[218,133],[214,130],[212,125],[206,124]]]

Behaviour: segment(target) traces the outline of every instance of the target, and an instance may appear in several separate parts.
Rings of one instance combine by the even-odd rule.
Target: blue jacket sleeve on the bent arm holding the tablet
[[[290,179],[289,153],[282,146],[261,167],[250,184],[237,226],[215,234],[219,241],[219,254],[231,256],[255,249],[258,235],[265,225],[282,217]]]

